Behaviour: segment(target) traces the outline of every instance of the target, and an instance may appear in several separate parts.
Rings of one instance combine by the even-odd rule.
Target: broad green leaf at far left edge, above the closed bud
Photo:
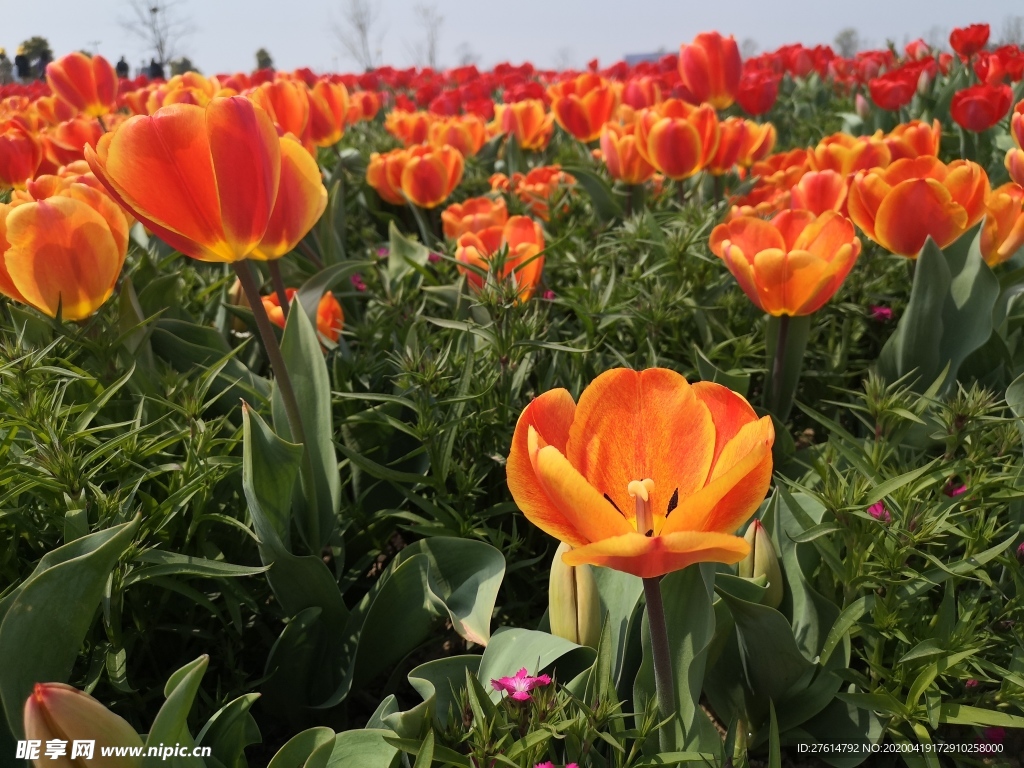
[[[33,686],[70,677],[111,571],[138,526],[136,517],[46,553],[0,601],[0,701],[16,737]]]

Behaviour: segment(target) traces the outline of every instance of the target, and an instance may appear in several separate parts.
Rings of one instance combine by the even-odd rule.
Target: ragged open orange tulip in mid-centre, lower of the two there
[[[526,301],[541,282],[544,271],[544,231],[541,225],[526,216],[512,216],[503,226],[489,226],[479,232],[465,232],[459,238],[456,260],[459,271],[475,291],[483,289],[484,279],[474,269],[488,270],[495,257],[507,249],[499,280],[514,280],[518,301]]]

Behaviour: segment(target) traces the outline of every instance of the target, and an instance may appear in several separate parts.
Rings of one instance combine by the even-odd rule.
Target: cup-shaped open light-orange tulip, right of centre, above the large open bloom
[[[750,300],[776,316],[816,312],[860,255],[853,224],[835,211],[740,216],[716,226],[710,246]]]

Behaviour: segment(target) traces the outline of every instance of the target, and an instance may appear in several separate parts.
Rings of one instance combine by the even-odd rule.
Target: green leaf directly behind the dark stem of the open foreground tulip
[[[717,752],[721,749],[721,738],[698,703],[708,653],[715,637],[712,604],[715,566],[701,563],[677,570],[662,580],[660,589],[664,595],[672,596],[671,600],[665,601],[665,620],[669,630],[669,647],[673,651],[672,673],[676,679],[679,713],[675,723],[665,727],[676,729],[674,746],[677,750],[695,748]],[[650,627],[646,611],[642,633],[643,664],[633,685],[633,706],[637,712],[655,697],[654,660],[650,653]]]

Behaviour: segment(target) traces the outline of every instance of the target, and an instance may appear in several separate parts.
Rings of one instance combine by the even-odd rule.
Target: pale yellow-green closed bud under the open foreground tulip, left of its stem
[[[572,567],[562,562],[562,555],[570,549],[567,544],[558,545],[551,563],[548,583],[551,634],[596,648],[601,639],[601,600],[597,582],[590,565]]]

